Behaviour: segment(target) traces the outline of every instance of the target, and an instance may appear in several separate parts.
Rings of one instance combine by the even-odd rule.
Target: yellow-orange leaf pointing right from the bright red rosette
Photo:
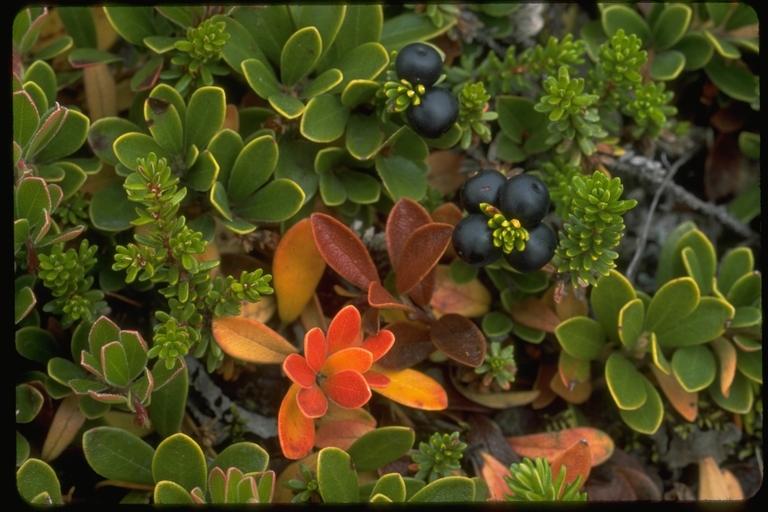
[[[393,402],[425,411],[441,411],[448,407],[448,395],[431,377],[410,368],[387,370],[373,365],[372,369],[390,378],[389,386],[374,391]]]

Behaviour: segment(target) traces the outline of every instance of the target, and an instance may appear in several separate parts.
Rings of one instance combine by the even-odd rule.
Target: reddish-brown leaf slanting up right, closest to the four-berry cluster
[[[398,293],[407,293],[437,265],[451,241],[451,233],[451,225],[431,222],[410,234],[395,265]]]

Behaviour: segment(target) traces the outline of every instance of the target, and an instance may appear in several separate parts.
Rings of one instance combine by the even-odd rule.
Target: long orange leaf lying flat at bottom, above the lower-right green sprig
[[[544,457],[551,462],[582,439],[589,443],[593,467],[602,464],[613,454],[613,440],[602,430],[592,427],[574,427],[558,432],[508,437],[507,442],[520,457]]]

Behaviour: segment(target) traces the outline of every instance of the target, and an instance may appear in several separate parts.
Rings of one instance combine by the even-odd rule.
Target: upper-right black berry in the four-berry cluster
[[[508,220],[535,226],[549,211],[549,189],[533,174],[512,176],[501,189],[499,209]]]

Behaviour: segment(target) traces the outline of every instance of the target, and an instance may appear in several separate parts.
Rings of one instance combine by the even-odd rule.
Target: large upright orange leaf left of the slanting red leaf
[[[317,250],[309,219],[302,219],[285,232],[272,261],[272,286],[280,320],[292,322],[312,298],[325,271],[325,260]]]

